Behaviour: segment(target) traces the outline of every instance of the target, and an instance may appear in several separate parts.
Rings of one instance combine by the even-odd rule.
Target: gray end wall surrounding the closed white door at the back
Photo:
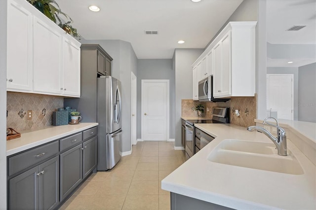
[[[142,79],[169,79],[169,138],[174,139],[175,73],[172,70],[172,59],[139,59],[137,61],[137,139],[142,138]]]

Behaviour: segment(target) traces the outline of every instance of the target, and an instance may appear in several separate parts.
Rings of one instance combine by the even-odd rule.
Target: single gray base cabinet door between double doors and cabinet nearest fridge
[[[64,200],[82,181],[82,145],[60,154],[60,200]]]

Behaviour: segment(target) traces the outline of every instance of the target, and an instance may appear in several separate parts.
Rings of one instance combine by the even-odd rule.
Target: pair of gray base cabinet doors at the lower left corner
[[[48,210],[59,204],[59,158],[9,180],[9,209]]]

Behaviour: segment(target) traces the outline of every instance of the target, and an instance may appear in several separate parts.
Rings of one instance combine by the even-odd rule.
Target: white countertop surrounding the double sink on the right
[[[272,141],[232,124],[195,126],[216,138],[165,177],[162,189],[233,209],[316,209],[316,167],[290,140],[287,148],[300,162],[303,175],[210,162],[208,155],[225,139]]]

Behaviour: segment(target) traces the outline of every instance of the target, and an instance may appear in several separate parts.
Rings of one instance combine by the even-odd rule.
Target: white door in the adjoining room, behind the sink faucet
[[[293,120],[293,74],[267,74],[267,109],[278,119]]]

